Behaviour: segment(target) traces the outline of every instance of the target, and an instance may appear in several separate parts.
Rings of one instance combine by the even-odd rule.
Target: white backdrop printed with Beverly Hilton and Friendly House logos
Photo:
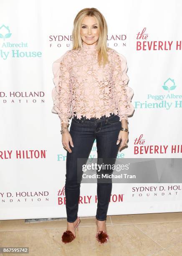
[[[105,16],[108,46],[126,56],[134,90],[128,148],[117,158],[182,156],[181,2],[1,0],[1,220],[66,217],[66,151],[51,113],[52,64],[71,49],[73,19],[87,7]],[[89,157],[97,157],[96,141]],[[113,184],[108,215],[182,211],[181,189]],[[96,205],[96,184],[81,184],[79,216],[95,216]]]

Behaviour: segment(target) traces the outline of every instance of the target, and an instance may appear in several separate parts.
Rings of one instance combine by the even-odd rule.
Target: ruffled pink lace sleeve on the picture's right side
[[[132,115],[134,112],[134,106],[131,104],[131,97],[134,92],[128,86],[129,77],[126,74],[127,70],[126,58],[122,54],[114,51],[113,86],[120,121],[122,119],[128,121],[128,115]]]

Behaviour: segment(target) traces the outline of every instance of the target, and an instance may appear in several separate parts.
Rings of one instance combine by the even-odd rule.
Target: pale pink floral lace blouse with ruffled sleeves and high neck
[[[89,119],[114,113],[121,121],[133,113],[126,58],[114,49],[107,53],[104,68],[97,63],[96,45],[83,44],[82,50],[68,50],[53,62],[52,113],[58,114],[61,124],[74,115]]]

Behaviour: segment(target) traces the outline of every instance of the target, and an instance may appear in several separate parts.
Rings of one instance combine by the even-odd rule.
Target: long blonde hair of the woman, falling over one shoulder
[[[92,16],[95,17],[98,29],[99,29],[99,39],[97,42],[97,51],[98,51],[98,64],[101,66],[101,62],[103,66],[106,65],[108,60],[107,51],[109,51],[109,47],[107,47],[107,23],[104,18],[104,16],[97,10],[96,8],[84,8],[79,11],[79,13],[76,15],[74,22],[73,22],[73,48],[72,50],[78,50],[82,49],[82,38],[80,34],[81,30],[81,23],[85,16]]]

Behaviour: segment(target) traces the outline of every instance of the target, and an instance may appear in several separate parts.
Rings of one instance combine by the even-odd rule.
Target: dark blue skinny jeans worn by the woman
[[[91,119],[87,119],[82,115],[81,119],[74,117],[71,120],[69,132],[74,147],[70,145],[72,152],[69,153],[67,151],[65,183],[68,222],[74,222],[78,216],[81,183],[77,183],[77,158],[88,159],[96,139],[97,158],[112,158],[116,160],[120,145],[120,143],[116,145],[116,142],[120,128],[119,116],[115,114],[110,114],[109,117],[104,115],[101,118]],[[97,220],[106,220],[111,190],[112,182],[97,182]]]

